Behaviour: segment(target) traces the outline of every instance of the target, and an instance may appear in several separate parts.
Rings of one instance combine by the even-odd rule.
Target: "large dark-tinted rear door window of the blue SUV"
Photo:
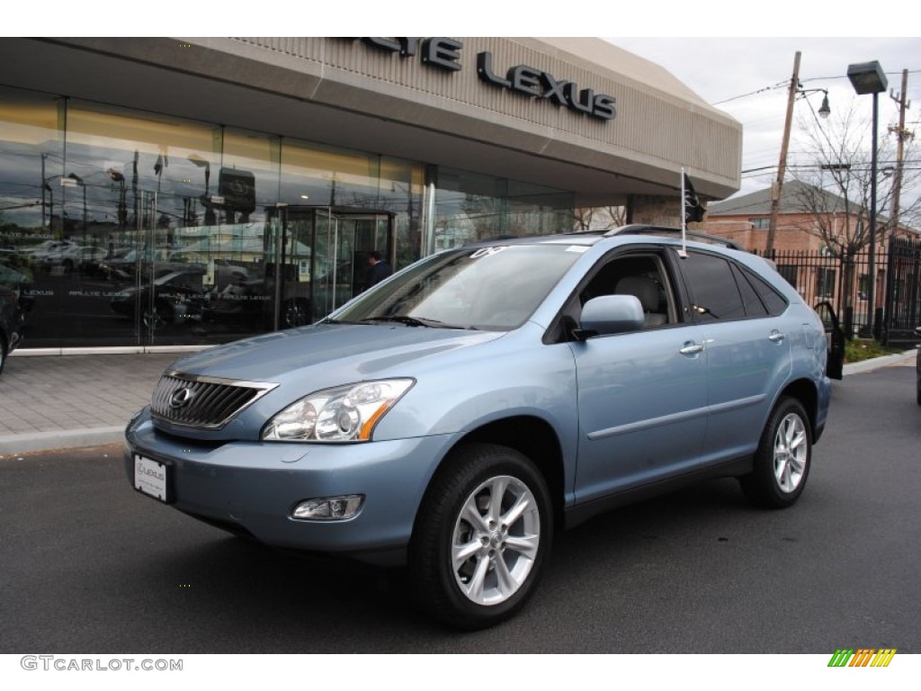
[[[745,305],[729,262],[713,254],[688,252],[687,259],[680,260],[679,265],[691,294],[691,311],[696,321],[745,318]]]

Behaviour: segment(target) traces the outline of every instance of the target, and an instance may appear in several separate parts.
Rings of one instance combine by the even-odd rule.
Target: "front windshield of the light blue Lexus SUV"
[[[507,331],[528,320],[578,256],[565,244],[442,252],[368,291],[330,321]]]

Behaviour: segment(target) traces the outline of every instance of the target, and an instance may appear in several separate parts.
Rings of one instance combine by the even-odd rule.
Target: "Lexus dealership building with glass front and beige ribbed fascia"
[[[740,187],[741,125],[600,39],[0,39],[24,349],[222,343],[474,240]]]

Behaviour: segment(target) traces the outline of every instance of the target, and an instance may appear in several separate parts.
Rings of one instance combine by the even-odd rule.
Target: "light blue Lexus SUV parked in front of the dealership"
[[[135,489],[266,544],[407,565],[451,625],[514,614],[554,532],[705,478],[803,491],[822,322],[763,259],[661,228],[495,240],[317,324],[174,363]]]

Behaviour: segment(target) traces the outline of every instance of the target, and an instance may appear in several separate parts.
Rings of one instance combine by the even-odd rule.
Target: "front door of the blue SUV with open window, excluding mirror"
[[[577,502],[688,472],[704,442],[704,338],[698,325],[682,322],[659,254],[614,258],[579,300],[616,294],[640,299],[644,328],[570,344],[578,382]]]

